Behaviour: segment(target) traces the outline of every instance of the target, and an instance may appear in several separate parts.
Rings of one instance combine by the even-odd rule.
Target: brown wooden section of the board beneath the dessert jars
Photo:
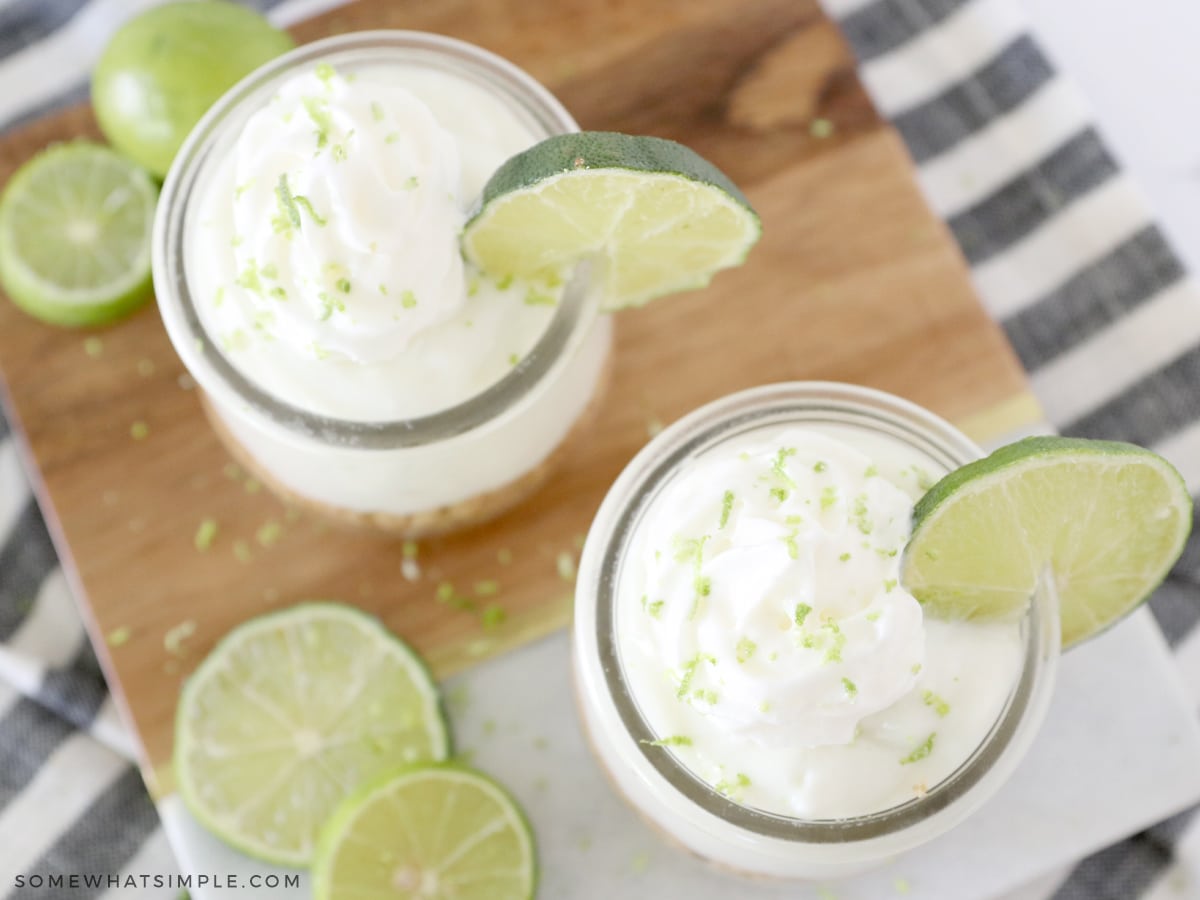
[[[857,382],[979,439],[1038,415],[814,0],[360,0],[295,34],[373,28],[473,41],[546,83],[584,128],[690,144],[745,188],[763,240],[710,288],[622,313],[590,439],[516,511],[422,544],[415,580],[398,542],[329,530],[230,468],[152,306],[90,335],[97,344],[0,302],[7,412],[160,794],[170,788],[181,679],[250,616],[312,598],[358,604],[439,674],[564,624],[566,563],[606,487],[660,424],[718,396],[788,379]],[[0,181],[52,140],[96,134],[88,108],[10,134]],[[143,439],[134,422],[149,427]],[[205,518],[220,530],[202,552],[193,539]],[[463,593],[496,581],[506,622],[484,629],[478,614],[440,604],[444,581]]]

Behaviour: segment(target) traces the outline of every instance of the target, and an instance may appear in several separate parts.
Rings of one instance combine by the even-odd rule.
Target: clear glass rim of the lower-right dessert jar
[[[581,576],[594,594],[593,622],[599,649],[599,684],[620,719],[642,763],[700,810],[756,836],[804,844],[848,844],[886,838],[925,822],[986,781],[997,763],[1020,754],[1040,726],[1049,703],[1058,656],[1058,614],[1052,584],[1043,581],[1021,622],[1024,661],[1003,709],[971,755],[920,797],[864,816],[805,820],[742,805],[695,775],[668,748],[648,742],[659,736],[642,715],[624,676],[616,635],[616,595],[620,560],[646,510],[678,466],[738,433],[776,424],[799,422],[802,413],[839,416],[840,424],[872,425],[906,440],[947,468],[971,462],[983,451],[944,419],[883,391],[830,382],[794,382],[754,388],[718,400],[664,431],[622,473],[605,499],[588,536]],[[884,427],[881,427],[884,426]],[[578,648],[576,648],[578,652]],[[1012,760],[1015,764],[1015,758]],[[648,774],[648,773],[647,773]]]

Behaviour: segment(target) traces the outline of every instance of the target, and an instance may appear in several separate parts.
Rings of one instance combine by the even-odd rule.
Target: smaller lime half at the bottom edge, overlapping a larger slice
[[[516,802],[462,766],[421,766],[334,814],[312,869],[317,900],[530,900],[533,833]]]

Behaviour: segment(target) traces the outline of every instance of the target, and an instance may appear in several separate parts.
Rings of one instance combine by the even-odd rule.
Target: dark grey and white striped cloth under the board
[[[0,127],[85,98],[107,37],[154,2],[0,0]],[[288,24],[336,2],[252,5]],[[1049,424],[1151,446],[1200,494],[1200,293],[1086,106],[1031,38],[1016,0],[823,2]],[[1200,707],[1200,540],[1152,608]],[[1186,866],[1200,868],[1200,821],[1190,812],[1081,860],[1038,895],[1178,898],[1180,884],[1196,883],[1181,877]],[[0,419],[0,892],[30,871],[173,868]]]

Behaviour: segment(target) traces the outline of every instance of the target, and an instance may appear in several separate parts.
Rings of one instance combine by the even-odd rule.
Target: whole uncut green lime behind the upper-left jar
[[[209,107],[294,46],[258,13],[224,0],[155,7],[104,48],[91,79],[96,119],[118,150],[162,178]]]

